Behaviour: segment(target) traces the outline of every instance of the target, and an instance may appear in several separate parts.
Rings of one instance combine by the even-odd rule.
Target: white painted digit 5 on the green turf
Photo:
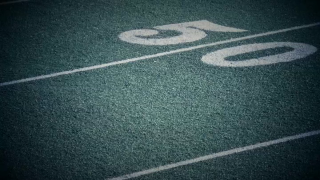
[[[198,41],[207,36],[202,31],[214,31],[214,32],[244,32],[246,30],[237,29],[232,27],[221,26],[207,20],[185,22],[179,24],[169,24],[164,26],[153,27],[152,29],[137,29],[123,32],[119,35],[122,41],[126,41],[134,44],[142,45],[172,45]],[[178,31],[181,35],[168,37],[168,38],[148,38],[159,34],[158,30],[171,30]]]

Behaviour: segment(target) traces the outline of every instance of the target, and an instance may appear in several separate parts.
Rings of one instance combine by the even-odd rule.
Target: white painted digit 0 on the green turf
[[[272,56],[264,56],[255,59],[247,59],[243,61],[227,61],[227,57],[240,55],[244,53],[280,48],[290,47],[292,51],[276,54]],[[260,44],[248,44],[241,45],[231,48],[221,49],[215,52],[208,53],[202,57],[202,61],[207,64],[223,67],[247,67],[247,66],[258,66],[268,65],[280,62],[290,62],[297,59],[305,58],[310,54],[317,51],[317,48],[308,44],[303,43],[292,43],[292,42],[274,42],[274,43],[260,43]]]

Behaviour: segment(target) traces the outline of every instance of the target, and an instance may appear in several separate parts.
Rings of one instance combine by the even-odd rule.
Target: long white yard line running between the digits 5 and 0
[[[216,46],[216,45],[221,45],[221,44],[226,44],[226,43],[231,43],[231,42],[236,42],[236,41],[242,41],[242,40],[247,40],[247,39],[252,39],[252,38],[257,38],[257,37],[262,37],[262,36],[268,36],[268,35],[303,29],[303,28],[309,28],[309,27],[314,27],[314,26],[318,26],[318,25],[320,25],[320,22],[308,24],[308,25],[302,25],[302,26],[295,26],[295,27],[276,30],[276,31],[269,31],[269,32],[265,32],[265,33],[259,33],[259,34],[245,36],[245,37],[224,40],[224,41],[218,41],[218,42],[214,42],[214,43],[208,43],[208,44],[203,44],[203,45],[198,45],[198,46],[193,46],[193,47],[188,47],[188,48],[181,48],[181,49],[177,49],[177,50],[173,50],[173,51],[167,51],[167,52],[162,52],[162,53],[157,53],[157,54],[152,54],[152,55],[145,55],[145,56],[126,59],[126,60],[114,61],[114,62],[106,63],[106,64],[100,64],[100,65],[95,65],[95,66],[79,68],[79,69],[73,69],[73,70],[69,70],[69,71],[62,71],[62,72],[58,72],[58,73],[40,75],[40,76],[35,76],[35,77],[30,77],[30,78],[25,78],[25,79],[20,79],[20,80],[14,80],[14,81],[8,81],[8,82],[0,83],[0,87],[29,82],[29,81],[36,81],[36,80],[40,80],[40,79],[47,79],[47,78],[52,78],[52,77],[57,77],[57,76],[62,76],[62,75],[67,75],[67,74],[73,74],[73,73],[77,73],[77,72],[84,72],[84,71],[89,71],[89,70],[94,70],[94,69],[101,69],[101,68],[105,68],[105,67],[109,67],[109,66],[126,64],[126,63],[130,63],[130,62],[151,59],[151,58],[156,58],[156,57],[161,57],[161,56],[167,56],[170,54],[192,51],[195,49]]]

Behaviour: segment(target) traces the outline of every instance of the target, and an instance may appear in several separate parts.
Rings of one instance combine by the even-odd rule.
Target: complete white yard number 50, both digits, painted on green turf
[[[179,35],[164,38],[152,38],[158,35],[160,31],[176,31]],[[136,29],[123,32],[119,35],[122,41],[149,45],[149,46],[164,46],[175,45],[182,43],[189,43],[201,40],[207,36],[205,31],[225,32],[225,33],[239,33],[247,30],[233,27],[221,26],[207,20],[184,22],[178,24],[168,24],[163,26],[155,26],[153,29]],[[231,56],[241,55],[244,53],[251,53],[255,51],[275,49],[288,47],[292,50],[271,56],[264,56],[253,59],[245,59],[242,61],[227,61]],[[247,45],[240,45],[231,48],[224,48],[202,57],[202,62],[214,66],[222,67],[248,67],[258,65],[269,65],[280,62],[290,62],[297,59],[305,58],[317,51],[317,48],[304,43],[294,42],[270,42],[270,43],[254,43]]]

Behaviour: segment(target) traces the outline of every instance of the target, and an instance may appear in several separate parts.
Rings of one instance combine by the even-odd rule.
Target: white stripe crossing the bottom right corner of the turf
[[[306,138],[306,137],[310,137],[310,136],[315,136],[315,135],[319,135],[319,134],[320,134],[320,130],[310,131],[310,132],[303,133],[303,134],[287,136],[287,137],[284,137],[284,138],[281,138],[281,139],[276,139],[276,140],[262,142],[262,143],[258,143],[258,144],[254,144],[254,145],[245,146],[245,147],[235,148],[235,149],[231,149],[231,150],[228,150],[228,151],[222,151],[222,152],[218,152],[218,153],[213,153],[213,154],[206,155],[206,156],[201,156],[201,157],[198,157],[198,158],[195,158],[195,159],[189,159],[189,160],[186,160],[186,161],[180,161],[180,162],[177,162],[177,163],[167,164],[167,165],[164,165],[164,166],[159,166],[159,167],[156,167],[156,168],[151,168],[151,169],[139,171],[139,172],[135,172],[135,173],[132,173],[132,174],[127,174],[127,175],[123,175],[123,176],[119,176],[119,177],[115,177],[115,178],[110,178],[110,179],[107,179],[107,180],[124,180],[124,179],[136,178],[136,177],[140,177],[140,176],[147,175],[147,174],[153,174],[153,173],[156,173],[156,172],[159,172],[159,171],[164,171],[164,170],[176,168],[176,167],[179,167],[179,166],[185,166],[185,165],[189,165],[189,164],[193,164],[193,163],[197,163],[197,162],[201,162],[201,161],[215,159],[215,158],[218,158],[218,157],[228,156],[228,155],[237,154],[237,153],[241,153],[241,152],[245,152],[245,151],[251,151],[251,150],[254,150],[254,149],[268,147],[268,146],[271,146],[271,145],[285,143],[285,142],[288,142],[288,141],[293,141],[293,140]]]

